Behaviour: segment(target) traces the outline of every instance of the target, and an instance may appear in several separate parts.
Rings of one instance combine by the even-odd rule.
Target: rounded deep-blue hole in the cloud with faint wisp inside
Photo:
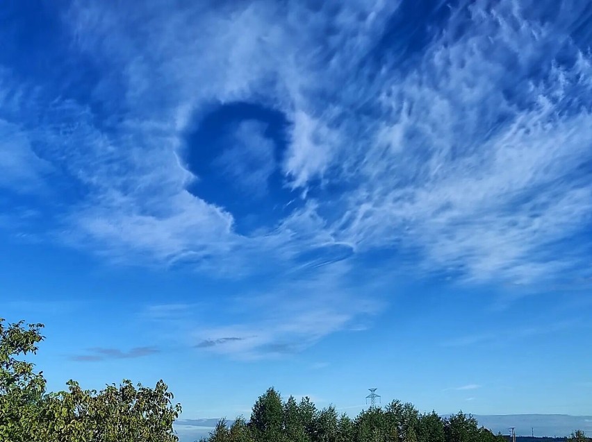
[[[276,226],[302,205],[286,187],[281,162],[289,123],[254,103],[219,105],[185,137],[185,163],[197,180],[188,190],[231,212],[241,235]]]

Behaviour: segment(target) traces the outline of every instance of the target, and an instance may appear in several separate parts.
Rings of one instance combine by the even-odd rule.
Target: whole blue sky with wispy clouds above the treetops
[[[589,414],[589,1],[0,10],[1,316],[51,389]]]

